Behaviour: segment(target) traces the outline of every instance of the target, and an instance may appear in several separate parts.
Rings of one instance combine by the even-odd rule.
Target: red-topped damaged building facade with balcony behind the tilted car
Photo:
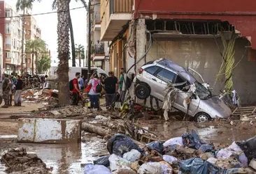
[[[203,7],[203,8],[202,8]],[[169,58],[197,70],[213,93],[224,88],[216,80],[224,61],[223,39],[237,35],[234,89],[242,104],[256,103],[256,2],[101,0],[101,40],[110,40],[111,70],[136,72],[157,58]]]

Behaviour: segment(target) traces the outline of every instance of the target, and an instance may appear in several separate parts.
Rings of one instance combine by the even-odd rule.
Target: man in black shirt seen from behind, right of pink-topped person
[[[114,76],[113,72],[108,72],[108,76],[103,84],[106,90],[106,108],[111,109],[115,104],[115,93],[118,89],[118,78]]]

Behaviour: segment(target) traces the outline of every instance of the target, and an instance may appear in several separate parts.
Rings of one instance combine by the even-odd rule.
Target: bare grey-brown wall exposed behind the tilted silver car
[[[165,38],[154,39],[146,61],[152,61],[157,58],[169,58],[171,61],[184,67],[194,68],[204,77],[205,81],[214,87],[214,94],[219,94],[224,88],[224,81],[218,81],[215,84],[215,76],[218,74],[222,63],[222,56],[216,45],[222,42],[220,38]],[[234,69],[234,88],[241,97],[242,104],[256,104],[256,62],[248,61],[246,51],[248,40],[238,39],[236,41],[236,63],[241,61]],[[215,86],[214,86],[215,84]]]

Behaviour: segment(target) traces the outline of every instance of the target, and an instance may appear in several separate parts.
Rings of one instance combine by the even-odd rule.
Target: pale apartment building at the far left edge
[[[0,33],[3,35],[3,69],[4,72],[20,73],[21,45],[22,45],[22,18],[17,17],[12,6],[6,1],[0,1]]]

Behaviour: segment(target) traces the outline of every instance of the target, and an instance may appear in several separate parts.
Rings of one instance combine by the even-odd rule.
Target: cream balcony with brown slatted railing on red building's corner
[[[107,0],[101,7],[101,40],[113,40],[131,19],[134,0]]]

